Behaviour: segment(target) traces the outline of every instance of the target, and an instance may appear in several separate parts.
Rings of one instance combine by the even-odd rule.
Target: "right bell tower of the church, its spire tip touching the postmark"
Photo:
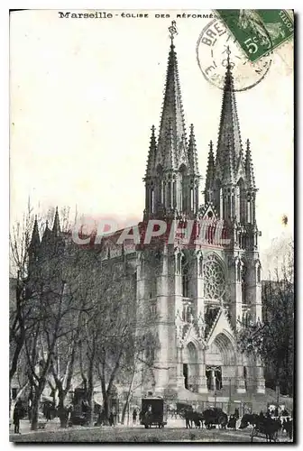
[[[243,322],[262,321],[261,262],[255,202],[258,189],[253,175],[251,143],[243,146],[234,94],[233,63],[227,48],[225,86],[221,108],[216,159],[209,144],[206,207],[216,209],[218,219],[229,230],[230,245],[225,249],[229,283],[229,313],[236,330]],[[239,355],[238,358],[242,359]],[[243,370],[238,366],[238,388],[243,385]],[[248,384],[264,392],[262,367],[249,364]]]

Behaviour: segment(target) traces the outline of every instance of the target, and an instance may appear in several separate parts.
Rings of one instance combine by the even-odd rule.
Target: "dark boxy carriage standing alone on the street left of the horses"
[[[158,426],[164,428],[167,424],[167,404],[162,398],[142,398],[140,424],[145,428]]]

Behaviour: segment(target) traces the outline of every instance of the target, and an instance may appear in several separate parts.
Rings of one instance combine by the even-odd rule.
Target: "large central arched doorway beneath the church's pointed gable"
[[[218,334],[209,345],[206,353],[206,376],[210,391],[218,391],[235,383],[234,344],[225,333]]]

